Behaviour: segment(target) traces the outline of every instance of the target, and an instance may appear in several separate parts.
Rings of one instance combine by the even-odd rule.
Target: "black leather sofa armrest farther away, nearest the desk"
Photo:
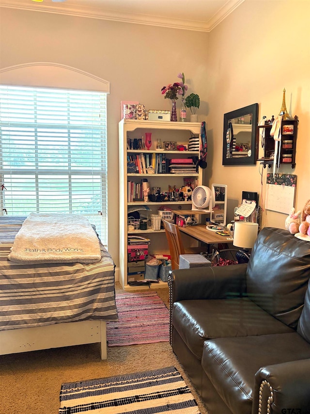
[[[186,299],[224,299],[245,295],[247,264],[172,270],[170,303]]]

